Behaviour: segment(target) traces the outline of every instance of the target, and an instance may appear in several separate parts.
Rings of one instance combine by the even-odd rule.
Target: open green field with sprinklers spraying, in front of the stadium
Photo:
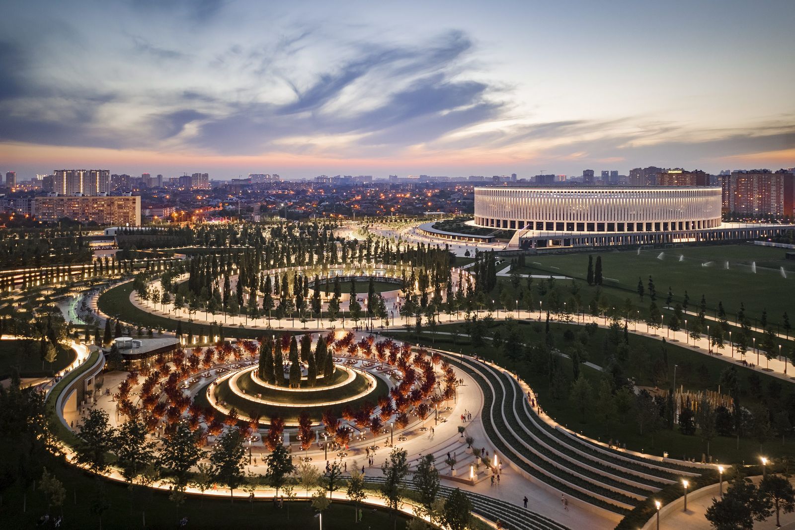
[[[660,254],[663,254],[661,259]],[[626,250],[621,252],[592,253],[602,257],[603,291],[615,304],[629,298],[638,308],[649,307],[649,297],[641,303],[637,294],[638,277],[642,278],[648,295],[649,276],[657,290],[657,305],[665,304],[669,287],[674,303],[681,303],[684,292],[690,297],[691,311],[703,294],[709,313],[717,310],[718,302],[729,319],[733,319],[740,303],[754,323],[767,310],[768,322],[781,323],[781,315],[789,311],[790,322],[795,325],[795,261],[785,259],[785,250],[765,246],[700,246],[665,250]],[[682,258],[681,258],[682,257]],[[729,269],[725,269],[726,261]],[[585,279],[588,253],[553,254],[526,257],[527,266],[522,273],[555,274]],[[751,264],[756,263],[756,273]],[[784,267],[786,278],[781,276]],[[583,300],[590,300],[595,288],[584,288]]]

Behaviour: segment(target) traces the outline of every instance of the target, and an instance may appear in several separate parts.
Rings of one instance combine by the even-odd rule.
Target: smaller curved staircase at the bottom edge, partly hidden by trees
[[[365,482],[373,485],[382,484],[383,477],[365,477]],[[405,489],[415,489],[410,480],[403,483]],[[455,488],[449,486],[439,487],[439,496],[447,498]],[[503,528],[508,530],[568,530],[562,524],[556,523],[549,517],[524,509],[519,505],[501,501],[494,497],[467,491],[467,497],[472,503],[472,512],[492,522],[500,520]]]

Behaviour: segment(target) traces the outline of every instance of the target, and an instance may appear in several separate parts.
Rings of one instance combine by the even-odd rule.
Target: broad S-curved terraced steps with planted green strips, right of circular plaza
[[[483,389],[481,419],[494,448],[556,493],[625,515],[663,486],[699,475],[691,466],[612,451],[553,427],[533,412],[510,374],[466,356],[447,358]]]

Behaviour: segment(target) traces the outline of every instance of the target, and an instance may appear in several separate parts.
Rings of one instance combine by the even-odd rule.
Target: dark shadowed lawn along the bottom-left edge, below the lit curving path
[[[242,499],[231,503],[229,498],[207,498],[189,496],[177,507],[169,501],[169,494],[140,487],[130,492],[127,486],[111,481],[98,481],[76,468],[66,466],[48,457],[43,462],[66,489],[63,506],[52,508],[52,516],[63,516],[60,528],[85,530],[100,528],[99,516],[91,513],[91,504],[99,486],[102,486],[107,501],[103,513],[102,528],[179,528],[182,517],[188,517],[186,528],[318,528],[318,520],[308,501],[285,501],[278,509],[272,501],[256,501],[254,504]],[[37,482],[38,484],[38,482]],[[334,497],[343,499],[344,491]],[[23,499],[24,497],[24,499]],[[288,506],[289,505],[289,506]],[[25,506],[25,511],[23,511]],[[289,519],[288,519],[289,512]],[[37,520],[47,513],[47,501],[40,489],[29,485],[13,486],[3,492],[2,520],[10,526],[4,528],[36,528]],[[324,513],[325,530],[347,530],[353,523],[354,507],[347,502],[332,501]],[[145,520],[145,525],[144,525]],[[397,516],[397,528],[405,528],[407,518]],[[373,508],[363,509],[363,528],[393,528],[394,520],[388,513]],[[52,528],[52,526],[45,527]]]

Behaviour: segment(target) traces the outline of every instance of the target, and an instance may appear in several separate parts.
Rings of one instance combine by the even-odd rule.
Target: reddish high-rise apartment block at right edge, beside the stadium
[[[785,169],[733,171],[723,177],[723,198],[724,209],[735,214],[792,217],[795,175]]]

